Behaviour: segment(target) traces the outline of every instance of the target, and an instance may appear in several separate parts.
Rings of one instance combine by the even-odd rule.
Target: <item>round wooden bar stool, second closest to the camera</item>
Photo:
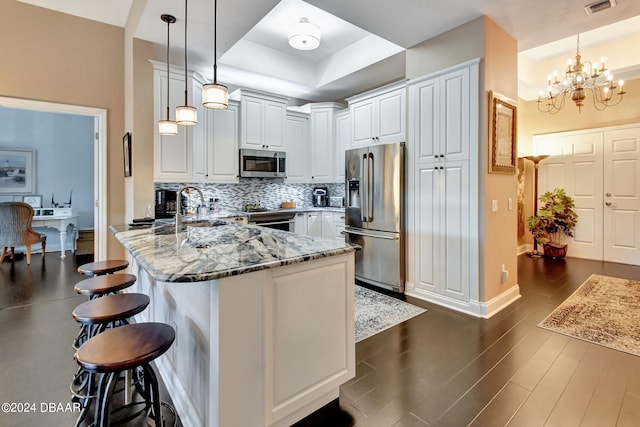
[[[144,294],[116,294],[84,302],[73,310],[73,318],[81,324],[80,332],[73,341],[77,350],[83,343],[108,328],[128,325],[129,318],[141,313],[149,305]],[[79,368],[71,381],[74,400],[84,408],[95,391],[94,374]],[[84,417],[83,417],[84,418]]]

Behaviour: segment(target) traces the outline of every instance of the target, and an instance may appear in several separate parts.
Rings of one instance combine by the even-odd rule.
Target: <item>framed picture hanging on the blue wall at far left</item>
[[[33,194],[35,163],[35,150],[0,148],[0,194]]]

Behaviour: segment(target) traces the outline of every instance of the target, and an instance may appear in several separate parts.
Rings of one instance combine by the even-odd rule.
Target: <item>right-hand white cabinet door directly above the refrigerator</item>
[[[406,140],[405,93],[402,88],[378,97],[376,144]]]

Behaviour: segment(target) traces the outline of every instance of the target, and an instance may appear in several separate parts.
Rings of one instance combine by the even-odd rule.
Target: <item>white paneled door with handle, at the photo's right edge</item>
[[[604,260],[640,264],[640,128],[604,132]]]

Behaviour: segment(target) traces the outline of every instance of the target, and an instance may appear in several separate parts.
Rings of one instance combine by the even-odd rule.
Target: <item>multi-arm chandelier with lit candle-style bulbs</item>
[[[605,58],[602,58],[602,64],[582,61],[580,34],[578,34],[575,59],[567,61],[567,69],[562,81],[558,79],[557,71],[547,77],[546,93],[541,92],[538,96],[538,110],[556,114],[569,98],[578,107],[578,112],[582,112],[582,106],[589,93],[596,110],[603,111],[622,101],[622,96],[626,93],[622,89],[623,85],[622,80],[618,80],[617,86],[613,82],[613,75],[607,70]],[[617,92],[616,89],[618,89]]]

